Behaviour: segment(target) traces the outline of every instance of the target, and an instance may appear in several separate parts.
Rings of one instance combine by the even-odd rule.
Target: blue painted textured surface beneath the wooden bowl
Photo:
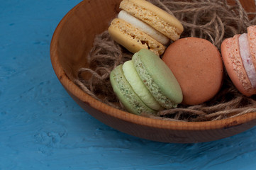
[[[50,40],[79,0],[0,0],[0,169],[256,169],[256,128],[199,144],[123,134],[57,80]]]

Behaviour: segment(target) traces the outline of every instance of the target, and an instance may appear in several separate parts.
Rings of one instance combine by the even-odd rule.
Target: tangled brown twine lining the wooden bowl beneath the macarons
[[[223,0],[149,1],[182,22],[184,33],[181,38],[204,38],[216,45],[218,50],[225,38],[246,33],[248,26],[256,25],[256,13],[246,13],[238,0],[235,6]],[[248,14],[252,16],[251,19]],[[125,111],[113,93],[109,74],[119,64],[130,60],[132,55],[104,31],[96,35],[94,47],[88,56],[89,67],[79,69],[79,79],[75,82],[97,100]],[[89,74],[90,78],[84,79],[84,74]],[[160,111],[157,115],[143,115],[173,121],[211,121],[256,112],[256,96],[249,98],[240,94],[226,72],[224,74],[221,91],[211,101],[196,106],[179,105],[178,108]]]

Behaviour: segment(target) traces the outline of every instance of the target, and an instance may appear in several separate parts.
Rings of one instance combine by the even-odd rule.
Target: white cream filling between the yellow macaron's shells
[[[118,13],[118,18],[130,23],[135,28],[138,28],[142,30],[144,33],[147,33],[152,38],[160,42],[162,45],[166,45],[169,42],[169,38],[167,38],[165,35],[160,33],[159,31],[155,30],[155,28],[152,28],[147,23],[144,23],[143,21],[140,21],[138,18],[135,18],[134,16],[131,16],[126,11],[120,11]]]

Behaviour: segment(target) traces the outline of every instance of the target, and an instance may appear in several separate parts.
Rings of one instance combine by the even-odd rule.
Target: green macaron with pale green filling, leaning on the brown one
[[[130,113],[154,114],[182,102],[182,90],[172,71],[147,49],[113,69],[110,80],[116,96]]]

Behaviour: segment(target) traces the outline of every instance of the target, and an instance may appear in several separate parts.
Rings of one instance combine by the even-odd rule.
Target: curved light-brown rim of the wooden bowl
[[[52,62],[52,67],[55,70],[55,74],[57,78],[62,83],[62,86],[65,87],[70,93],[72,93],[75,97],[79,98],[79,100],[83,101],[89,107],[95,108],[102,113],[107,115],[111,115],[114,118],[118,118],[120,120],[124,120],[130,123],[135,123],[138,125],[144,125],[152,128],[160,128],[165,130],[213,130],[213,129],[221,129],[228,128],[230,125],[240,125],[243,123],[247,123],[256,118],[256,113],[246,113],[244,115],[238,115],[233,118],[226,118],[223,120],[213,120],[213,121],[204,121],[204,122],[179,122],[172,120],[161,120],[155,118],[147,118],[141,115],[134,115],[132,113],[128,113],[125,111],[121,111],[117,108],[113,108],[111,106],[106,105],[105,103],[101,103],[95,98],[86,94],[82,89],[80,89],[74,82],[69,79],[65,70],[62,69],[62,65],[60,62],[60,57],[57,53],[57,50],[54,47],[57,47],[57,40],[60,36],[60,29],[65,25],[69,15],[71,15],[79,6],[87,4],[89,0],[81,1],[77,6],[74,6],[60,21],[55,29],[55,32],[52,35],[52,40],[50,43],[50,60]],[[93,114],[91,114],[93,115]]]

